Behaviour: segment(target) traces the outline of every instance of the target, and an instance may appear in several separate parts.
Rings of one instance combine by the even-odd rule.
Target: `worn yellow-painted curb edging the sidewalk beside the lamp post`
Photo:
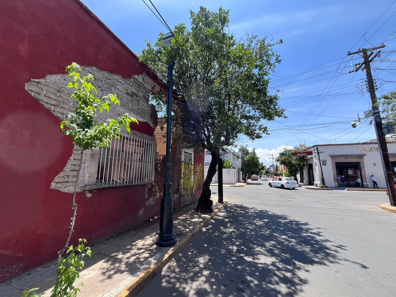
[[[117,295],[117,297],[133,297],[139,293],[139,291],[141,291],[141,289],[143,289],[143,287],[145,287],[152,280],[152,278],[154,278],[154,276],[156,276],[156,274],[160,272],[161,269],[164,268],[169,263],[169,261],[171,261],[171,259],[173,259],[173,257],[175,257],[175,255],[179,253],[179,251],[185,247],[188,242],[190,242],[190,240],[192,240],[192,238],[194,238],[194,236],[196,236],[196,234],[198,234],[198,232],[200,232],[200,230],[202,230],[202,228],[228,204],[228,202],[230,202],[230,200],[225,199],[219,208],[213,211],[211,215],[208,215],[208,217],[203,219],[194,230],[184,236],[181,241],[175,244],[175,246],[171,247],[165,255],[150,265],[150,267],[140,274],[135,280],[133,280],[131,284],[125,287],[121,293]]]

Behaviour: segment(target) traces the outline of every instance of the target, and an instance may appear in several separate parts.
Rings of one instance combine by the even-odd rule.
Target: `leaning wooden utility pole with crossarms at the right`
[[[377,95],[375,94],[375,86],[374,86],[374,81],[373,81],[373,76],[371,74],[371,66],[370,66],[370,63],[375,59],[375,57],[379,56],[381,53],[381,51],[378,51],[377,53],[375,53],[375,55],[373,55],[373,51],[375,49],[380,49],[380,48],[385,48],[385,44],[369,49],[366,48],[359,49],[358,51],[355,51],[353,53],[349,52],[348,55],[363,53],[363,62],[360,63],[355,68],[355,70],[351,72],[358,72],[358,70],[361,69],[362,67],[364,67],[364,69],[366,70],[367,86],[368,86],[368,91],[370,93],[371,105],[373,109],[373,117],[375,123],[375,134],[377,135],[379,154],[381,156],[381,162],[384,169],[386,188],[388,188],[389,203],[391,206],[396,206],[396,189],[394,187],[393,173],[392,173],[392,168],[390,166],[390,160],[388,154],[388,146],[386,145],[385,133],[383,133],[382,130],[383,129],[382,118],[378,108]],[[370,51],[370,53],[368,53],[368,51]],[[373,57],[371,57],[372,55]]]

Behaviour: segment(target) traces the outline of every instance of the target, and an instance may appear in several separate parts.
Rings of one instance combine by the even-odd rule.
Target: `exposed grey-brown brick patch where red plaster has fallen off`
[[[105,122],[108,118],[128,113],[141,122],[148,122],[153,129],[157,126],[158,119],[153,116],[153,106],[149,104],[150,93],[158,93],[160,88],[150,78],[139,74],[131,78],[124,78],[110,72],[102,71],[96,67],[82,67],[82,73],[94,76],[94,85],[97,88],[97,97],[113,93],[120,100],[120,106],[110,108],[110,112],[98,113],[96,121]],[[42,105],[60,119],[64,119],[68,112],[77,107],[77,103],[70,98],[73,88],[67,88],[70,77],[65,74],[48,74],[42,79],[32,79],[25,84],[27,91]],[[155,112],[155,108],[154,108]],[[61,133],[59,128],[59,133]],[[151,135],[133,132],[133,134],[155,140]],[[77,179],[78,164],[81,159],[81,148],[75,146],[65,165],[65,168],[53,179],[50,188],[63,192],[73,192]],[[98,150],[85,151],[82,155],[78,191],[85,185],[93,185],[96,177]]]

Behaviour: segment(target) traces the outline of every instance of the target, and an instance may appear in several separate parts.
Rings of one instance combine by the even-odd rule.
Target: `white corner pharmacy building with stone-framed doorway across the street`
[[[387,139],[390,164],[396,176],[396,142]],[[319,149],[319,156],[316,152]],[[307,165],[300,172],[299,181],[305,185],[321,185],[322,171],[327,187],[373,187],[371,175],[374,174],[378,186],[385,188],[384,171],[377,141],[313,145],[301,150],[314,152],[307,156]],[[322,165],[322,169],[321,166]]]

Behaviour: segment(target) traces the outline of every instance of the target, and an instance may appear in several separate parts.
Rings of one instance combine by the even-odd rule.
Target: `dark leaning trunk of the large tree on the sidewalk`
[[[210,165],[208,168],[208,173],[206,174],[206,178],[204,181],[204,186],[202,187],[201,196],[198,200],[198,205],[196,207],[196,211],[200,212],[213,212],[212,205],[213,201],[210,200],[211,190],[210,183],[212,182],[213,177],[216,174],[217,163],[219,162],[220,154],[218,152],[211,151],[212,160],[210,161]]]

